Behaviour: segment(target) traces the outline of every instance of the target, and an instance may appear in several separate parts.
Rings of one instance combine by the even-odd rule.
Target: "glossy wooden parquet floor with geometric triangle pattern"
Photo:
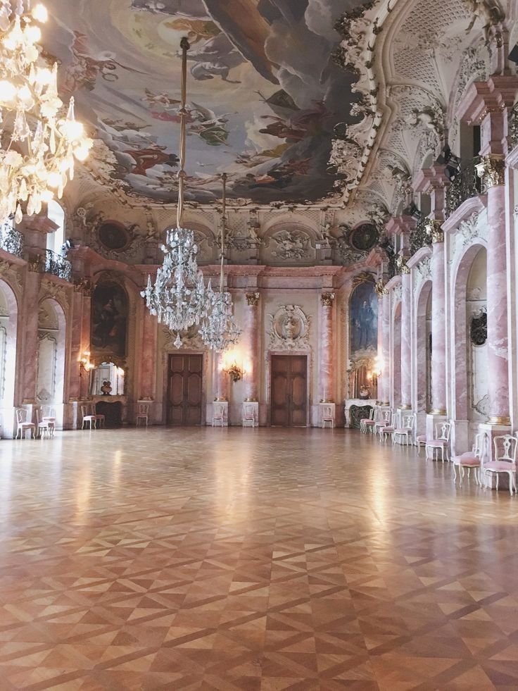
[[[0,441],[0,689],[518,688],[518,499],[348,430]]]

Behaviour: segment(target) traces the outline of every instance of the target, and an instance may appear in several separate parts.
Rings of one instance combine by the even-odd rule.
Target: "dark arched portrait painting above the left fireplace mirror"
[[[127,295],[122,286],[101,282],[91,299],[91,347],[99,353],[126,354]]]

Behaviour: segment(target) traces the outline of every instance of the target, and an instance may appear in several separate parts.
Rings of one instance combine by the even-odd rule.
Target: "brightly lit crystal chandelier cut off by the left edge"
[[[0,224],[14,214],[22,220],[39,213],[42,203],[61,198],[74,176],[74,160],[87,158],[92,141],[58,97],[56,63],[49,68],[39,54],[48,17],[30,0],[0,0]]]

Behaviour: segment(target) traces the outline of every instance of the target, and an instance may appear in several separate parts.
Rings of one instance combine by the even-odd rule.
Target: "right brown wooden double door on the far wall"
[[[274,427],[308,424],[308,357],[272,355],[270,423]]]

